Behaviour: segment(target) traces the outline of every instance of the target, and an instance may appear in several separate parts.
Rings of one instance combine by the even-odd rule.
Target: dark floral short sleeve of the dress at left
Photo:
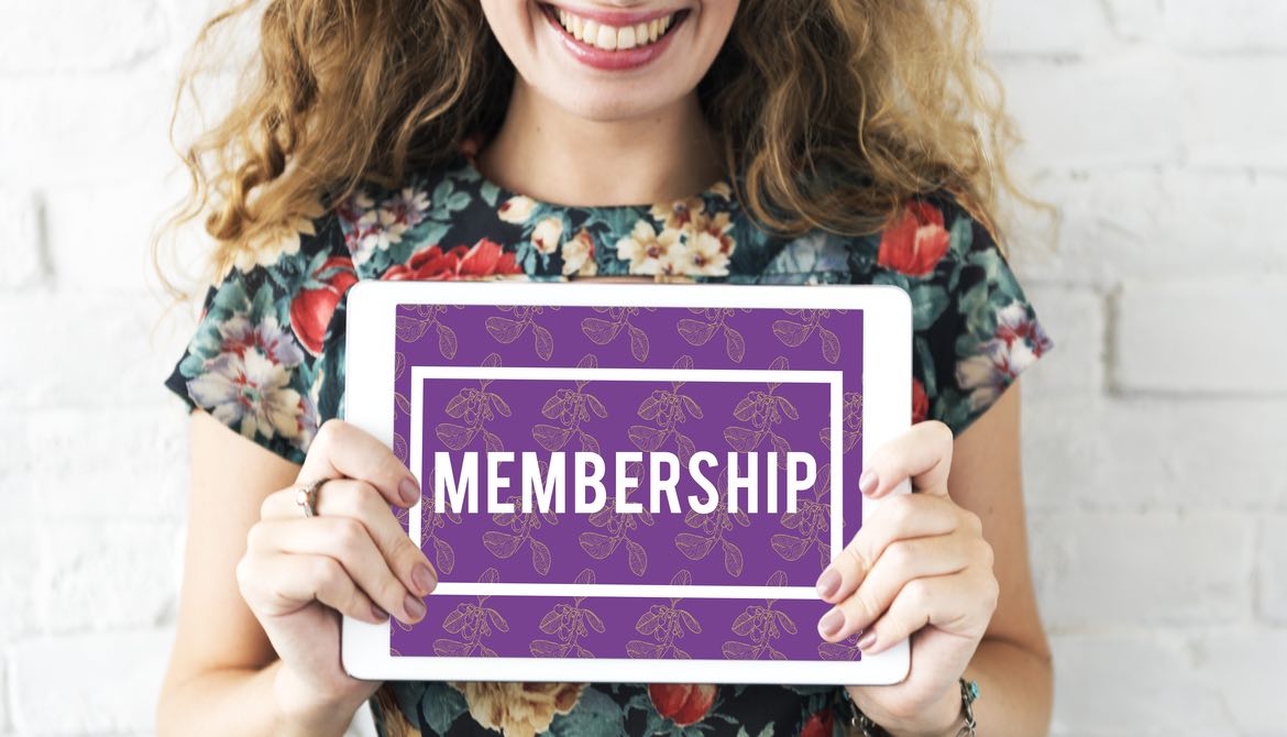
[[[344,297],[358,280],[338,223],[304,219],[230,265],[165,386],[292,463],[344,408]]]

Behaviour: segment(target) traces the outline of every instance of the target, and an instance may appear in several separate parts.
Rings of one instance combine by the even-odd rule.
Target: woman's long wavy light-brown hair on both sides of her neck
[[[153,241],[180,298],[165,232],[205,216],[205,269],[224,273],[364,180],[395,184],[489,138],[515,80],[477,0],[239,0],[189,50],[171,141],[215,37],[238,19],[257,21],[257,50],[227,114],[176,145],[190,190]],[[1033,202],[1006,170],[1018,136],[972,0],[741,0],[698,94],[726,170],[741,174],[735,197],[777,233],[874,233],[945,189],[1001,243],[1001,197]]]

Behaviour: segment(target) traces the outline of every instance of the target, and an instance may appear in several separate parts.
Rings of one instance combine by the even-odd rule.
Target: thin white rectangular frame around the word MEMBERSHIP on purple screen
[[[844,401],[843,370],[767,370],[767,369],[647,369],[647,368],[578,368],[578,367],[439,367],[411,368],[411,432],[407,466],[426,489],[423,475],[423,422],[425,382],[445,379],[498,379],[498,381],[685,381],[692,383],[822,383],[830,388],[828,405],[831,414],[831,468],[842,468],[843,437],[840,423]],[[786,374],[786,378],[784,378]],[[831,475],[831,560],[840,549],[844,530],[844,495],[840,493],[843,473]],[[423,544],[421,521],[423,502],[416,502],[408,514],[408,535],[417,547]],[[819,571],[821,574],[821,571]],[[646,585],[646,584],[593,584],[578,587],[571,583],[494,583],[439,581],[435,592],[471,596],[553,596],[553,597],[707,597],[737,599],[804,599],[816,598],[813,587],[746,587],[746,585]],[[580,592],[580,593],[578,593]]]

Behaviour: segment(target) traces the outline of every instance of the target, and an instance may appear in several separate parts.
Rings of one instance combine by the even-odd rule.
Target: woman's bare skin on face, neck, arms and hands
[[[588,0],[565,4],[575,9]],[[479,154],[503,187],[579,206],[650,203],[721,176],[695,86],[727,36],[736,0],[618,0],[602,8],[691,10],[646,73],[601,72],[566,57],[533,3],[483,0],[519,80],[505,125]],[[586,152],[593,152],[587,156]],[[560,176],[548,176],[557,171]],[[620,172],[629,172],[622,176]],[[342,734],[378,682],[340,665],[340,612],[416,623],[436,583],[389,504],[409,507],[407,468],[369,435],[328,421],[302,466],[205,412],[190,421],[192,489],[175,647],[157,713],[161,734]],[[977,679],[979,734],[1046,733],[1051,665],[1027,563],[1017,383],[964,433],[920,423],[875,451],[887,503],[833,563],[843,612],[828,639],[862,628],[873,651],[912,637],[909,678],[849,687],[891,733],[954,734],[956,678]],[[335,478],[318,518],[299,484]],[[425,566],[430,585],[413,571]],[[874,624],[873,624],[874,623]]]

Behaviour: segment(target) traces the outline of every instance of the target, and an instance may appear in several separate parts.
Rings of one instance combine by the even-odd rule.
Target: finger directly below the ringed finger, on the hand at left
[[[329,556],[385,611],[404,623],[425,616],[425,602],[394,575],[366,526],[353,517],[263,520],[251,527],[247,550]]]

